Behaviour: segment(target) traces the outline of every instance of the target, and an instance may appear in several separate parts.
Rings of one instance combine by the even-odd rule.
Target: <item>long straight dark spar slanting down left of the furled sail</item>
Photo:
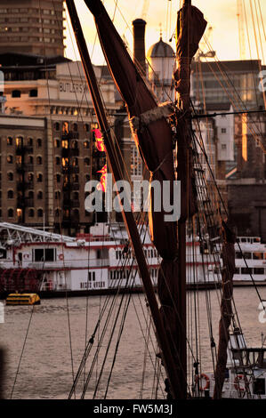
[[[105,115],[103,103],[101,101],[101,95],[98,89],[96,76],[93,71],[93,65],[90,60],[90,56],[86,47],[83,31],[82,31],[80,21],[77,16],[76,6],[73,0],[66,0],[66,4],[69,10],[69,17],[71,20],[72,28],[76,36],[77,47],[78,47],[82,64],[85,70],[86,82],[88,84],[88,88],[92,95],[93,107],[95,109],[95,113],[96,113],[96,116],[97,116],[97,119],[101,128],[101,133],[104,136],[104,143],[106,147],[109,167],[113,174],[114,180],[120,181],[123,179],[119,172],[119,168],[116,164],[114,142],[110,133],[110,127],[109,127],[109,123]],[[163,354],[165,371],[169,379],[171,393],[172,393],[173,398],[179,398],[179,394],[181,392],[181,389],[179,388],[180,380],[178,379],[178,376],[176,373],[176,365],[173,361],[172,352],[170,350],[169,342],[165,334],[165,327],[163,326],[162,318],[160,316],[160,312],[159,312],[158,305],[157,305],[157,299],[153,290],[152,282],[149,277],[149,269],[148,269],[145,256],[143,253],[143,249],[141,245],[141,238],[139,236],[138,229],[133,218],[133,213],[125,212],[123,210],[123,217],[124,217],[125,226],[127,228],[128,234],[131,238],[133,251],[134,251],[136,260],[138,262],[142,284],[143,284],[143,287],[147,296],[147,300],[149,302],[149,309],[153,318],[154,325],[156,327],[157,341]],[[187,389],[187,382],[185,385],[185,390],[186,389]]]

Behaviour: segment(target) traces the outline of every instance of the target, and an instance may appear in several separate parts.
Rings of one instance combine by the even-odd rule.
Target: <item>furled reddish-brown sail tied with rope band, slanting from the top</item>
[[[173,138],[164,117],[167,107],[157,106],[101,1],[85,0],[85,3],[93,12],[102,51],[117,89],[125,100],[133,138],[149,169],[150,180],[173,181]],[[160,255],[173,258],[177,245],[176,223],[165,222],[164,216],[164,210],[151,211],[149,228]]]

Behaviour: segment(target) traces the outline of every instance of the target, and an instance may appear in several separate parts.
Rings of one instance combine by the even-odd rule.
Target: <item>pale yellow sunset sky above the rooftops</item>
[[[256,36],[258,39],[258,47],[260,58],[262,54],[264,58],[266,56],[266,1],[265,0],[244,0],[246,5],[246,15],[248,19],[248,31],[250,36],[252,58],[257,59],[258,54],[254,43],[254,26],[256,30]],[[112,18],[116,6],[116,0],[105,0],[104,2],[109,16]],[[137,18],[145,18],[142,16],[143,11],[143,0],[129,1],[129,0],[118,0],[117,10],[115,14],[115,26],[121,36],[124,36],[126,42],[129,45],[129,49],[132,50],[133,36],[132,36],[132,21]],[[162,29],[163,40],[169,42],[169,38],[172,36],[176,12],[180,8],[181,0],[146,0],[146,4],[149,4],[148,12],[145,20],[147,21],[146,27],[146,51],[149,50],[149,46],[155,44],[159,39],[160,28]],[[209,35],[209,42],[212,44],[214,50],[217,52],[219,60],[238,60],[239,54],[239,43],[238,43],[238,17],[237,17],[237,0],[192,0],[192,4],[200,8],[204,13],[209,26],[213,29],[208,31],[206,29],[206,35]],[[253,25],[252,11],[250,4],[253,4],[254,20]],[[262,19],[260,14],[260,8],[262,11]],[[104,60],[101,54],[101,47],[98,39],[95,40],[95,25],[91,12],[87,9],[84,0],[76,0],[77,12],[81,20],[85,39],[87,41],[89,52],[94,64],[103,64]],[[256,6],[256,8],[255,8]],[[257,21],[256,11],[258,14],[259,25]],[[245,16],[244,16],[245,19]],[[264,30],[262,28],[262,20],[264,23]],[[69,18],[67,22],[66,31],[66,55],[73,59],[78,58],[78,52],[74,40],[74,36],[69,32]],[[244,25],[245,34],[246,22]],[[258,30],[260,28],[260,32]],[[247,35],[245,36],[246,43],[246,59],[250,59],[250,52],[248,47]],[[262,40],[262,42],[261,42]],[[73,46],[75,44],[75,47]],[[94,44],[94,47],[93,47]],[[174,37],[172,41],[172,47],[174,49]],[[76,53],[75,53],[76,52]],[[264,63],[265,60],[264,60]]]

